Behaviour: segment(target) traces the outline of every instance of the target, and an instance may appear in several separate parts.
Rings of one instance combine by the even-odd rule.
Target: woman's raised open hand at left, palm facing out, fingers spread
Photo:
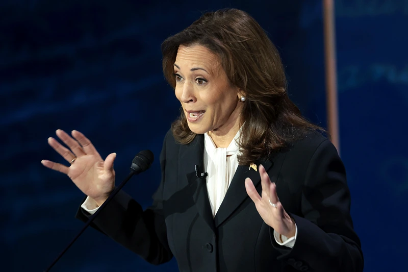
[[[53,137],[48,138],[48,144],[67,162],[75,160],[69,167],[48,160],[42,160],[41,163],[45,167],[68,175],[83,193],[91,197],[98,206],[102,205],[115,187],[113,162],[116,153],[109,154],[104,161],[91,141],[81,132],[72,131],[73,138],[62,130],[57,130],[56,134],[69,149]]]

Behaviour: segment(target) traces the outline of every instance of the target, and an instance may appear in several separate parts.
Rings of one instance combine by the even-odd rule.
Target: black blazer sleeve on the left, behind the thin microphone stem
[[[167,135],[160,154],[162,180],[153,196],[152,206],[143,211],[139,203],[121,190],[91,225],[152,264],[165,263],[173,257],[167,242],[162,207]],[[86,221],[89,213],[80,207],[75,217]]]

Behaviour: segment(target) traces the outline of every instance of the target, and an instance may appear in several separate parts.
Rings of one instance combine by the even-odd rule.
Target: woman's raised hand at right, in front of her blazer
[[[259,174],[261,175],[262,197],[249,178],[245,179],[246,192],[255,203],[255,207],[268,226],[288,238],[295,236],[295,222],[279,201],[276,194],[276,184],[271,182],[268,173],[262,165],[259,166]],[[275,204],[276,207],[273,207],[271,203]]]

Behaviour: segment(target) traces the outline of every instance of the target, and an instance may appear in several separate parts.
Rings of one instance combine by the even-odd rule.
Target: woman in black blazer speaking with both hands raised
[[[160,156],[162,181],[145,211],[120,192],[94,228],[150,263],[180,271],[362,271],[345,169],[333,144],[289,100],[276,48],[235,9],[202,15],[162,44],[182,112]],[[83,220],[114,188],[116,154],[101,159],[80,132],[49,144],[87,195]],[[195,166],[206,175],[197,175]]]

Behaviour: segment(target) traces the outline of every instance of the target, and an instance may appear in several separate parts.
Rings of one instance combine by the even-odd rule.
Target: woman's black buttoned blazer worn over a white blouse
[[[311,133],[260,160],[285,210],[297,225],[293,249],[278,245],[246,193],[249,177],[261,192],[259,172],[239,166],[213,218],[203,164],[204,137],[187,145],[168,132],[160,155],[162,181],[145,211],[124,192],[95,218],[93,227],[153,264],[176,258],[187,271],[362,271],[363,254],[350,217],[346,174],[334,145]],[[202,169],[202,168],[201,168]],[[89,214],[78,210],[77,217]]]

